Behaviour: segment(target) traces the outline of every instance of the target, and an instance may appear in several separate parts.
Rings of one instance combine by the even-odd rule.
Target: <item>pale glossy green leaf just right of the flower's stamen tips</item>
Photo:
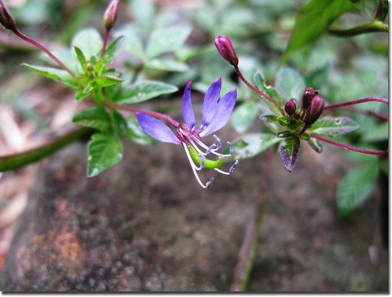
[[[254,157],[279,141],[281,141],[281,139],[273,134],[249,133],[242,135],[232,142],[234,149],[232,157],[234,159]],[[223,153],[228,153],[228,149]]]

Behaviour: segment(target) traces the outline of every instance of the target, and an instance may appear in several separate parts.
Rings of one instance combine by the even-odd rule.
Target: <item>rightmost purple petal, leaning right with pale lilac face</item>
[[[217,104],[217,110],[215,112],[214,118],[212,119],[210,125],[199,133],[200,137],[210,135],[215,131],[221,129],[226,125],[233,111],[234,105],[236,104],[237,90],[232,90],[225,94],[223,98]]]

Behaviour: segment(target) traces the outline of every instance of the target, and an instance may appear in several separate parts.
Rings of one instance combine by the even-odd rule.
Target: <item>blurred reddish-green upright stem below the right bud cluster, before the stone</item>
[[[241,246],[239,254],[239,259],[234,270],[234,281],[231,287],[232,291],[245,291],[248,284],[265,210],[265,197],[263,196],[263,194],[267,192],[268,185],[270,182],[270,173],[272,170],[273,161],[272,148],[270,148],[268,152],[267,160],[268,162],[266,163],[266,167],[264,170],[264,178],[262,179],[260,189],[262,195],[260,196],[257,203],[256,212],[246,230],[244,242]]]

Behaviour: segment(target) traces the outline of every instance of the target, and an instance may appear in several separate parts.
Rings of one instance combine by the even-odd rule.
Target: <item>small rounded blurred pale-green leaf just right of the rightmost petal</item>
[[[251,102],[244,102],[234,109],[231,115],[231,125],[234,130],[243,134],[253,123],[259,109]]]

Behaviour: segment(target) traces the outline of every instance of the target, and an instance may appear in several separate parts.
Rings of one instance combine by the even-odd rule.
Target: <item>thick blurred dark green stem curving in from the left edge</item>
[[[48,144],[27,150],[22,153],[0,156],[0,172],[6,170],[14,170],[23,167],[32,162],[36,162],[45,158],[73,141],[93,133],[95,130],[91,128],[79,128],[73,132],[57,137]]]

